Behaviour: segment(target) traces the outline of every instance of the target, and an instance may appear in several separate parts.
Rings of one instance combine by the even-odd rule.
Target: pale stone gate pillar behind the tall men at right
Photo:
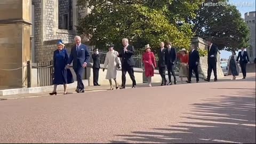
[[[191,38],[191,43],[195,45],[197,49],[206,50],[207,51],[207,43],[204,39],[200,37],[193,37]],[[217,45],[218,46],[218,45]],[[207,69],[208,69],[208,59],[207,55],[200,58],[199,66],[198,66],[198,73],[201,74],[204,78],[207,77]],[[220,67],[220,52],[217,53],[217,77],[221,78],[223,77],[223,71]],[[211,74],[211,79],[214,79],[213,71]]]

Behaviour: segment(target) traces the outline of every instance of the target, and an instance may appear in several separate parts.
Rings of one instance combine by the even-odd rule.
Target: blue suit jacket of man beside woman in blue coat
[[[69,60],[68,64],[73,61],[73,68],[80,68],[83,67],[83,63],[89,63],[90,60],[90,53],[89,53],[89,48],[82,44],[79,46],[78,52],[76,51],[76,45],[72,47],[70,55],[69,55]]]

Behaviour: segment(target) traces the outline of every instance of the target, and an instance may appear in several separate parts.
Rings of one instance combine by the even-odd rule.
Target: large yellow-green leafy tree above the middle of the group
[[[161,41],[188,49],[193,31],[185,18],[196,17],[194,11],[200,1],[194,2],[197,4],[190,0],[78,0],[79,5],[93,9],[79,20],[77,29],[89,36],[91,45],[99,48],[108,43],[121,47],[121,39],[126,37],[136,49],[143,49],[146,44],[156,49]],[[173,7],[179,10],[170,11]]]

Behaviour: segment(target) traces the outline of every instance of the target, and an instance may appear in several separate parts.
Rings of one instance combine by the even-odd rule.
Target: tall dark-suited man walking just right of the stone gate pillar
[[[218,47],[212,43],[212,39],[207,39],[207,45],[208,45],[208,70],[207,70],[207,78],[204,79],[204,81],[210,82],[211,74],[213,70],[214,74],[214,82],[217,82],[217,53],[218,53]]]

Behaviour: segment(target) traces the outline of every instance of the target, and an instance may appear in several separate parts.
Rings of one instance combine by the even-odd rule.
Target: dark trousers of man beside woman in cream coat
[[[134,71],[133,71],[133,66],[123,66],[122,67],[122,86],[125,87],[126,83],[126,72],[130,75],[132,79],[132,85],[136,85],[135,77],[134,77]]]

